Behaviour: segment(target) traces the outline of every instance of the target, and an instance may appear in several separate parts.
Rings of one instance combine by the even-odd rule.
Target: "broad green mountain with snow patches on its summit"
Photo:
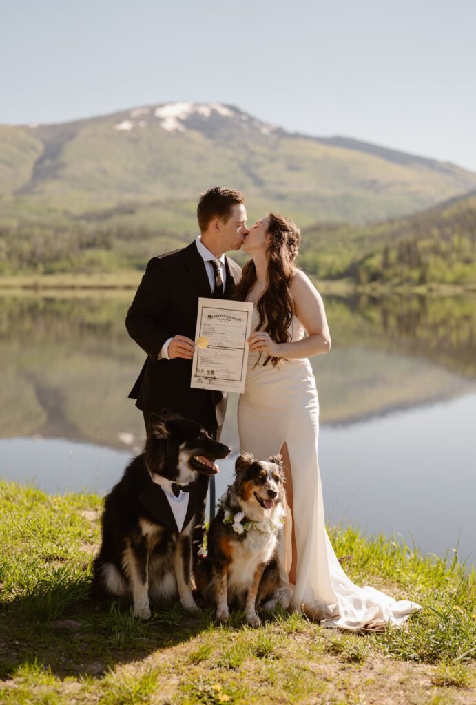
[[[0,125],[0,273],[142,269],[197,231],[200,192],[239,188],[250,221],[369,223],[476,189],[454,164],[289,133],[221,103]]]

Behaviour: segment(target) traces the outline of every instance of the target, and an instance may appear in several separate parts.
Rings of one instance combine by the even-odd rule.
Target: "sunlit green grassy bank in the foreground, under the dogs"
[[[0,703],[448,704],[475,701],[475,575],[454,555],[329,529],[345,569],[424,609],[405,629],[355,635],[277,611],[216,625],[171,603],[147,623],[94,601],[101,500],[0,482]]]

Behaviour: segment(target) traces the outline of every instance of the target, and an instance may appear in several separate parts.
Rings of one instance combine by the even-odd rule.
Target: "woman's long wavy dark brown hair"
[[[268,286],[256,304],[260,316],[257,330],[269,333],[275,343],[288,343],[291,341],[289,328],[295,312],[291,298],[291,281],[295,274],[294,261],[298,255],[301,233],[291,218],[277,213],[269,213],[268,217]],[[244,301],[255,281],[255,262],[250,259],[243,266],[243,274],[236,287],[234,298]],[[261,355],[262,353],[260,358]],[[276,367],[279,364],[279,357],[268,355],[263,364],[270,361]]]

